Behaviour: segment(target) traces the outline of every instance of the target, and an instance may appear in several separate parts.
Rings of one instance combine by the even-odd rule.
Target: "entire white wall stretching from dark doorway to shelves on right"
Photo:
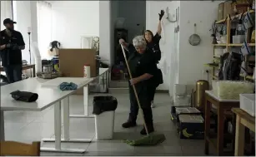
[[[196,81],[207,79],[203,75],[203,64],[212,61],[213,47],[211,32],[209,32],[213,21],[217,17],[217,2],[211,1],[147,1],[147,29],[156,30],[157,16],[161,9],[169,7],[169,12],[180,7],[179,21],[170,23],[163,19],[165,42],[162,39],[160,47],[163,52],[162,71],[164,84],[160,89],[168,89],[173,95],[173,85],[188,84],[194,86]],[[165,15],[166,17],[166,15]],[[197,23],[197,33],[201,37],[200,45],[194,47],[189,45],[188,37],[193,34],[193,24]],[[174,33],[174,27],[179,25],[179,32]],[[164,63],[164,58],[166,64]]]

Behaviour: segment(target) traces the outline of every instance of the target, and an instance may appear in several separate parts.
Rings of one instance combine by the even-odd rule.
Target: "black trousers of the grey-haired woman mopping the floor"
[[[144,119],[147,125],[153,124],[153,114],[151,109],[151,97],[148,96],[148,90],[145,89],[145,86],[142,87],[143,89],[138,89],[138,100],[140,105],[143,109]],[[138,102],[134,95],[133,86],[129,86],[129,96],[130,96],[130,114],[129,120],[136,121],[138,115]]]

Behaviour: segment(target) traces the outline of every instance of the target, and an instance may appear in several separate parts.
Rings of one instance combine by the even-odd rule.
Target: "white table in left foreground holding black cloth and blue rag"
[[[88,83],[93,81],[93,78],[85,79],[79,78],[80,82],[78,83],[78,79],[76,80],[78,83],[78,89],[83,86],[87,86]],[[74,79],[73,79],[74,80]],[[54,152],[72,152],[72,153],[83,153],[85,150],[83,149],[63,149],[61,147],[61,101],[68,96],[72,95],[75,91],[60,91],[58,88],[54,87],[43,87],[42,84],[45,82],[43,79],[38,78],[29,78],[23,81],[18,81],[13,84],[8,84],[6,86],[1,86],[1,121],[0,121],[0,140],[4,139],[4,111],[6,110],[27,110],[27,111],[42,111],[48,108],[51,105],[54,105],[54,133],[55,133],[55,147],[54,148],[44,148],[42,147],[42,151],[54,151]],[[38,100],[35,102],[21,102],[14,101],[12,96],[10,95],[13,91],[30,91],[33,93],[38,93]],[[66,99],[65,102],[68,102]],[[64,140],[69,140],[69,110],[68,103],[64,103],[64,124],[66,125],[66,129],[64,129]],[[68,125],[67,125],[68,123]],[[88,140],[91,142],[91,140]]]

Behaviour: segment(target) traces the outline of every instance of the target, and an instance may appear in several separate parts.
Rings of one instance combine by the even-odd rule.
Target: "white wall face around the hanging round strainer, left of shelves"
[[[181,1],[180,2],[180,43],[178,83],[195,86],[195,82],[204,79],[203,64],[213,60],[211,32],[213,21],[217,18],[218,3],[220,1]],[[188,37],[194,32],[194,23],[197,24],[197,33],[201,37],[198,46],[191,46]]]

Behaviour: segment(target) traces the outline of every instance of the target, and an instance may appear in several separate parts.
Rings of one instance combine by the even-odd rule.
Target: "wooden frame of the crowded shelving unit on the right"
[[[255,12],[254,10],[249,10],[248,11],[249,13],[253,13]],[[231,47],[243,47],[243,43],[230,43],[230,30],[231,30],[231,22],[233,21],[233,19],[235,18],[240,18],[241,16],[245,16],[247,12],[244,12],[243,14],[238,14],[238,15],[235,15],[233,17],[227,17],[222,19],[222,20],[219,20],[218,22],[216,22],[216,24],[225,24],[227,25],[227,39],[226,39],[226,43],[218,43],[218,44],[213,44],[213,63],[217,63],[218,66],[216,65],[213,65],[213,63],[210,63],[210,64],[205,64],[205,66],[210,66],[212,67],[212,79],[213,80],[218,80],[218,76],[215,76],[215,70],[216,69],[219,69],[219,59],[220,59],[220,56],[217,56],[215,55],[215,48],[216,47],[223,47],[226,48],[227,52],[230,52],[230,49]],[[248,33],[248,32],[247,32]],[[247,36],[247,42],[248,42],[248,47],[255,47],[255,43],[250,43],[250,36]],[[254,81],[253,80],[253,76],[241,76],[243,77],[244,80],[248,80],[248,81]]]

